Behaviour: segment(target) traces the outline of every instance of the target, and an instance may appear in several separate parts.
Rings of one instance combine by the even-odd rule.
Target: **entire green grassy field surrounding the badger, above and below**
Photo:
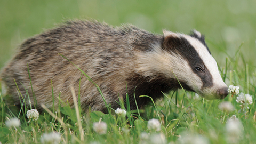
[[[93,18],[113,26],[132,23],[159,34],[162,29],[185,34],[196,29],[205,34],[225,83],[252,96],[252,103],[241,108],[238,95],[207,101],[179,90],[166,93],[163,100],[148,105],[139,115],[129,108],[126,116],[118,116],[111,109],[103,114],[66,106],[45,111],[28,123],[26,113],[31,108],[11,111],[1,95],[0,142],[255,143],[255,7],[256,1],[238,0],[0,1],[0,68],[26,38],[68,19]],[[225,111],[223,101],[234,108]],[[8,118],[12,117],[18,117],[20,125],[15,119],[10,125]],[[153,118],[158,121],[149,121]]]

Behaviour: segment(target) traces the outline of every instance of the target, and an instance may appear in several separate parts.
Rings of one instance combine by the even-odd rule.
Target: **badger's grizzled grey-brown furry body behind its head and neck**
[[[135,60],[138,58],[134,53],[150,51],[152,44],[162,40],[163,36],[131,25],[113,28],[95,21],[70,21],[25,41],[3,69],[1,76],[7,86],[7,93],[13,95],[16,105],[19,105],[20,101],[13,79],[17,82],[21,94],[25,96],[25,88],[30,87],[27,65],[38,104],[44,103],[51,107],[52,81],[54,97],[58,97],[61,92],[62,100],[68,100],[73,105],[70,86],[75,88],[78,95],[81,72],[61,57],[58,54],[60,53],[99,85],[107,103],[118,107],[115,101],[119,101],[118,94],[125,98],[126,82],[129,85],[129,94],[132,95],[135,86],[142,83],[137,82],[142,79],[138,80],[140,74],[135,70]],[[31,102],[34,103],[30,88],[28,92]],[[133,101],[132,99],[133,97],[130,101]],[[141,105],[145,103],[143,100],[141,102]],[[83,75],[81,103],[82,107],[90,106],[92,110],[103,111],[104,108],[99,92]],[[135,105],[132,107],[135,108]]]

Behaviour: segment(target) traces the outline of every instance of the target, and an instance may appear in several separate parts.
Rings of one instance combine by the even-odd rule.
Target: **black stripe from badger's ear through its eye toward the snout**
[[[186,38],[165,37],[163,49],[180,54],[184,59],[186,59],[189,66],[193,69],[193,72],[201,78],[203,87],[211,87],[213,85],[212,75],[206,67],[204,67],[203,71],[196,71],[195,66],[204,65],[204,62]]]

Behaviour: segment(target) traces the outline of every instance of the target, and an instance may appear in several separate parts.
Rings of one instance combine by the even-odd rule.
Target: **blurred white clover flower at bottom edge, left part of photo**
[[[44,133],[40,141],[43,144],[58,144],[61,136],[58,132]]]

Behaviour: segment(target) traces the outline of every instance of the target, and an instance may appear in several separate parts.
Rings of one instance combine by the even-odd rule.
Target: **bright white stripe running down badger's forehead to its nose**
[[[220,76],[217,63],[212,55],[209,53],[209,51],[206,49],[206,47],[196,38],[190,37],[188,35],[182,36],[185,37],[193,47],[195,47],[195,50],[199,54],[199,57],[201,57],[201,59],[203,60],[205,67],[212,75],[212,89],[220,89],[222,87],[226,87],[226,84],[222,81],[222,78]]]

